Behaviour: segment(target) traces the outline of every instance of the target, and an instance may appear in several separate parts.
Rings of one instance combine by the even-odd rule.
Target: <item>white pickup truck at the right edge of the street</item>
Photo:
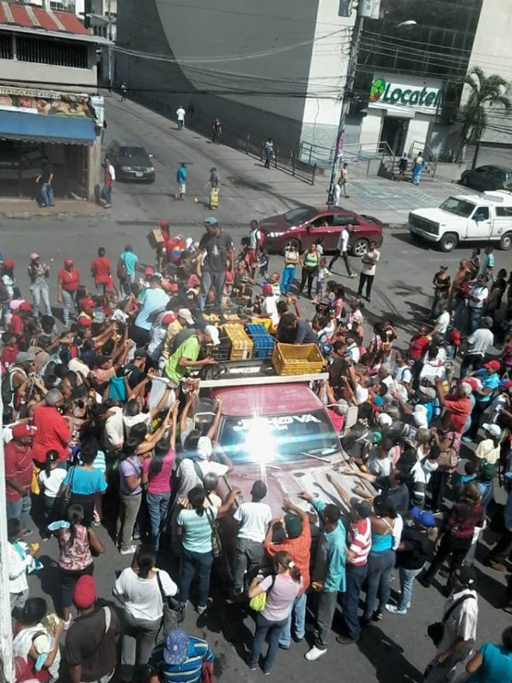
[[[512,193],[505,190],[448,197],[439,208],[418,208],[409,214],[412,237],[452,251],[459,242],[499,242],[512,247]]]

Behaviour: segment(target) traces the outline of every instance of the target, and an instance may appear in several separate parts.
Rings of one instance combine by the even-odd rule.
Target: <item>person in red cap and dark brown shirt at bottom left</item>
[[[114,677],[121,624],[116,610],[110,605],[97,607],[96,600],[94,578],[80,576],[73,589],[78,617],[68,630],[64,646],[72,682],[108,683]]]

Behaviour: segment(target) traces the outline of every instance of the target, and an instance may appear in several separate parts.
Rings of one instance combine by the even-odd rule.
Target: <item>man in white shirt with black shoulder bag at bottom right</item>
[[[476,640],[479,616],[476,570],[473,567],[456,569],[450,585],[452,593],[444,603],[442,629],[435,628],[433,633],[431,629],[429,633],[437,652],[425,669],[425,683],[448,683],[454,680],[457,664],[468,657]],[[432,627],[438,624],[432,624]],[[488,679],[486,683],[489,683]]]

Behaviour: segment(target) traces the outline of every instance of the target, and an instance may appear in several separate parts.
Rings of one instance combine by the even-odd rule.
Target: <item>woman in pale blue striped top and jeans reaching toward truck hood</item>
[[[196,612],[203,614],[208,606],[210,571],[213,564],[212,537],[215,520],[220,519],[235,503],[240,489],[231,489],[226,502],[220,507],[205,508],[203,487],[195,486],[188,492],[190,509],[181,509],[176,520],[181,535],[180,600],[183,607],[188,602],[192,579],[198,574],[198,602]]]

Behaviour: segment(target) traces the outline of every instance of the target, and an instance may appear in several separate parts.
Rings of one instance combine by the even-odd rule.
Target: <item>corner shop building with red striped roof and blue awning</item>
[[[0,196],[38,196],[41,159],[58,198],[100,182],[98,43],[74,14],[0,4]]]

